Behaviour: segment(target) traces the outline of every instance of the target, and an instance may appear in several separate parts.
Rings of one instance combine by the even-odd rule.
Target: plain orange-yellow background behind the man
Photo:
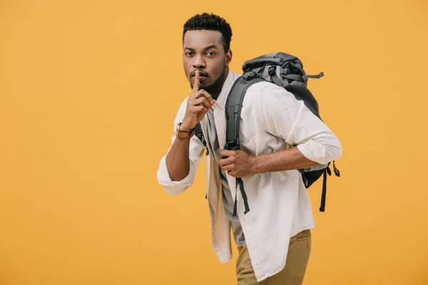
[[[210,244],[203,163],[156,180],[190,93],[183,24],[233,29],[231,69],[298,56],[343,145],[309,190],[305,284],[428,284],[427,1],[0,3],[0,284],[235,284]],[[233,252],[236,253],[235,247]]]

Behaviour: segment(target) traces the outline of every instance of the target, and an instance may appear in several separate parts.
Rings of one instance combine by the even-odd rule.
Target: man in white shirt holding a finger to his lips
[[[248,88],[240,124],[240,150],[225,145],[225,102],[240,76],[229,71],[230,25],[219,16],[189,19],[183,30],[183,66],[193,88],[175,117],[175,135],[161,159],[158,182],[171,195],[193,184],[204,153],[194,134],[201,123],[207,157],[207,195],[212,242],[222,263],[230,261],[230,228],[239,256],[238,284],[302,284],[310,256],[314,219],[297,169],[342,155],[340,142],[302,101],[268,82]],[[235,178],[242,177],[250,212]]]

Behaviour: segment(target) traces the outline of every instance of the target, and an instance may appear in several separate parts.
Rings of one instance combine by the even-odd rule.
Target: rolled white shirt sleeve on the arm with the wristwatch
[[[180,109],[178,110],[177,115],[175,116],[174,120],[174,133],[176,125],[183,121],[185,109],[187,106],[187,98],[181,103]],[[198,170],[198,165],[200,161],[203,158],[203,150],[205,149],[205,146],[203,143],[196,137],[196,135],[193,135],[192,138],[190,138],[190,145],[189,145],[189,161],[190,161],[190,170],[188,173],[188,176],[185,177],[183,180],[180,181],[173,181],[170,178],[168,168],[166,167],[166,155],[168,155],[168,152],[170,152],[170,149],[175,141],[175,135],[173,135],[171,139],[171,145],[168,148],[168,151],[166,154],[161,158],[161,162],[159,163],[159,168],[157,172],[158,182],[163,186],[166,192],[168,192],[170,195],[178,195],[181,192],[184,192],[188,189],[191,185],[193,185],[193,181],[195,180],[196,170]]]

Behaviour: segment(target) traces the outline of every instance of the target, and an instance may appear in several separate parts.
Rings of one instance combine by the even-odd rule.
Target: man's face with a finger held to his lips
[[[199,69],[200,88],[210,92],[223,86],[229,71],[232,52],[225,53],[220,31],[186,31],[183,39],[183,67],[193,88],[195,71]]]

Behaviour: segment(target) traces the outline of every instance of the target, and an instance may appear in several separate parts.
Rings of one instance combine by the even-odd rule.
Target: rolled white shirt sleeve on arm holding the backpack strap
[[[332,130],[285,88],[273,84],[263,88],[262,105],[267,132],[297,146],[307,159],[325,165],[342,156]]]

